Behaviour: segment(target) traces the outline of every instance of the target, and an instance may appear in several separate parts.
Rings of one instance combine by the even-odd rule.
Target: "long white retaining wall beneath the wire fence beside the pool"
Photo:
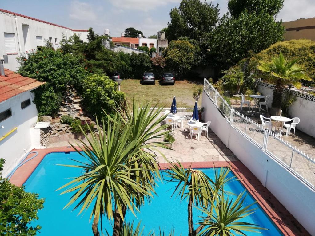
[[[203,117],[237,158],[311,234],[315,235],[315,191],[234,129],[203,92]]]

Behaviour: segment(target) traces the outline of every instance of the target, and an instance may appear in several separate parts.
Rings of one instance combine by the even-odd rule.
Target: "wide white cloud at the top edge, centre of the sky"
[[[169,3],[180,3],[180,0],[115,0],[111,3],[119,8],[149,11]]]

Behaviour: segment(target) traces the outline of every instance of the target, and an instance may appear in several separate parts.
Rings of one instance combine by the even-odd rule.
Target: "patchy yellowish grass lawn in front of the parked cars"
[[[201,81],[177,80],[175,85],[160,85],[159,81],[153,84],[140,84],[140,80],[125,79],[121,82],[120,89],[126,93],[129,104],[132,98],[142,98],[159,102],[159,104],[169,108],[174,96],[176,97],[177,108],[193,108],[195,100],[192,93],[198,87],[202,87]],[[201,106],[201,97],[198,101],[198,107]]]

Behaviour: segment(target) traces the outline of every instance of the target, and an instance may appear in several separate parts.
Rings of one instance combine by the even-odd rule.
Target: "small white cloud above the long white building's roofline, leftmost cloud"
[[[69,17],[72,20],[95,21],[97,16],[88,3],[71,2]]]

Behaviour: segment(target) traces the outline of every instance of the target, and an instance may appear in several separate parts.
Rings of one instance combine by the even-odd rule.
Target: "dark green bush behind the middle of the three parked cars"
[[[151,70],[150,57],[146,53],[132,53],[130,56],[131,76],[140,79],[143,72]]]

